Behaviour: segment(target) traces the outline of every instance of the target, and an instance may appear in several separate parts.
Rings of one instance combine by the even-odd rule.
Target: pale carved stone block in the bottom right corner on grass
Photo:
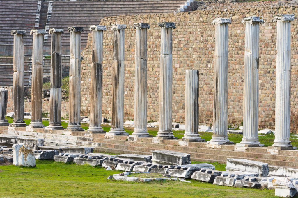
[[[298,193],[294,184],[288,178],[273,179],[272,184],[275,188],[275,196],[294,197]]]

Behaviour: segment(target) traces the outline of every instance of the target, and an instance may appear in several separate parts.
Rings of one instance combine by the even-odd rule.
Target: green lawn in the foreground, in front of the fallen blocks
[[[0,166],[0,197],[274,197],[274,190],[217,186],[196,180],[107,180],[117,173],[120,171],[53,161],[37,161],[35,168]]]

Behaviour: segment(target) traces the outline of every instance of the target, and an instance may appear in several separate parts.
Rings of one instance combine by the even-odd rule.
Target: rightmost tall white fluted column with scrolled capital
[[[291,21],[294,15],[275,15],[276,88],[275,88],[275,148],[293,149],[290,141],[291,121]]]

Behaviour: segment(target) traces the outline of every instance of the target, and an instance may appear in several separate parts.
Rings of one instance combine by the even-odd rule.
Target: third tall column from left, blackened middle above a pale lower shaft
[[[50,123],[45,129],[62,130],[61,126],[61,34],[63,28],[50,28],[51,40],[51,95],[50,95]]]

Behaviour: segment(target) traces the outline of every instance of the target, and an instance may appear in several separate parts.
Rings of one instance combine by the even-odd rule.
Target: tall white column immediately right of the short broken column
[[[231,19],[215,18],[213,135],[207,144],[221,145],[228,138],[228,55]]]

